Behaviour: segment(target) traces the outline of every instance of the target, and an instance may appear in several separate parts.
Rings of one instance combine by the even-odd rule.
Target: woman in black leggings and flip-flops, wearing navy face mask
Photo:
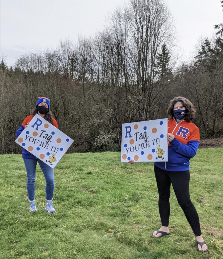
[[[168,225],[170,217],[170,184],[177,201],[184,211],[196,238],[197,250],[204,252],[208,247],[202,237],[199,217],[190,200],[190,158],[194,157],[200,140],[199,128],[191,121],[196,110],[193,104],[184,97],[175,97],[170,101],[168,114],[168,162],[154,162],[154,172],[159,192],[159,214],[161,228],[154,231],[152,237],[163,237],[170,234]],[[134,160],[129,163],[134,164]]]

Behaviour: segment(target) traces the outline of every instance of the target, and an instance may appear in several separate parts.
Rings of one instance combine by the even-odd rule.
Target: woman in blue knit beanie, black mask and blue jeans
[[[46,97],[39,97],[36,103],[36,107],[32,112],[32,115],[27,116],[22,122],[20,128],[16,131],[16,137],[18,137],[21,132],[26,128],[33,119],[34,115],[38,114],[42,118],[46,119],[49,123],[53,124],[58,128],[56,120],[53,118],[53,115],[50,111],[50,99]],[[46,180],[46,208],[45,210],[49,213],[55,212],[53,208],[53,191],[54,191],[54,175],[53,168],[46,165],[42,160],[38,159],[26,149],[22,149],[22,158],[25,163],[26,173],[27,173],[27,192],[28,192],[28,201],[30,202],[30,211],[36,212],[35,204],[35,178],[36,178],[36,165],[39,163],[40,168],[44,174]]]

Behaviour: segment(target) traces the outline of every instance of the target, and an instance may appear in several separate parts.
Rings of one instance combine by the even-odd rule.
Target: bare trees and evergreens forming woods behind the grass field
[[[223,7],[223,1],[221,1]],[[120,151],[122,123],[167,117],[174,96],[197,110],[202,138],[223,136],[223,24],[176,66],[172,17],[161,0],[131,0],[107,26],[78,43],[0,64],[0,153],[20,153],[15,132],[38,96],[51,99],[69,152]]]

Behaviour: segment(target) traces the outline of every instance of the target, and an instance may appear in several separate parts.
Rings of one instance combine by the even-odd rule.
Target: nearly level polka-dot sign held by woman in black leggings
[[[167,119],[122,124],[121,162],[168,161]]]

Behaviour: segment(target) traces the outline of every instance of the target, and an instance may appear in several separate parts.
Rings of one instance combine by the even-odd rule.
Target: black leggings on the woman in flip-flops
[[[168,227],[170,217],[170,183],[177,197],[177,201],[184,211],[195,236],[201,235],[199,217],[197,211],[190,200],[189,194],[189,171],[171,172],[165,171],[154,165],[154,172],[157,180],[159,192],[159,214],[162,226]]]

